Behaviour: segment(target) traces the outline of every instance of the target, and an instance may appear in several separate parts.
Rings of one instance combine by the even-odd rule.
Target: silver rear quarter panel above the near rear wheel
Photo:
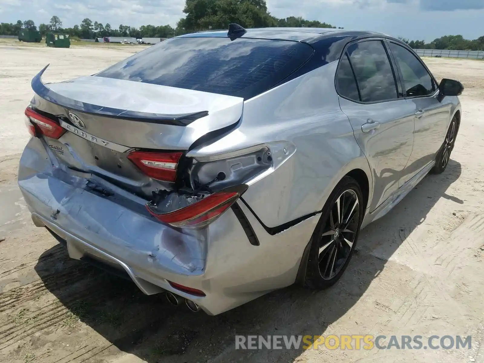
[[[237,129],[190,152],[197,158],[255,144],[294,145],[295,152],[282,166],[249,182],[243,195],[267,227],[320,211],[334,186],[352,169],[362,169],[371,185],[368,162],[348,117],[335,107],[337,63],[329,63],[246,101]]]

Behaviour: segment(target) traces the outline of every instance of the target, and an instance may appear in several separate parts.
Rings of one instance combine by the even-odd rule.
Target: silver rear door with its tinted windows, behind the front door
[[[414,110],[399,97],[382,40],[349,45],[336,74],[341,110],[373,171],[371,211],[390,197],[402,178],[413,144]]]

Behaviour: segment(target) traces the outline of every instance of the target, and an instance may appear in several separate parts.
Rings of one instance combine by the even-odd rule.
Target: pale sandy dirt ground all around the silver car
[[[447,170],[362,231],[329,290],[289,287],[217,317],[71,260],[16,186],[30,79],[90,75],[138,48],[0,44],[0,362],[484,362],[484,61],[426,59],[462,81]],[[471,349],[236,350],[240,335],[463,335]],[[388,340],[387,342],[388,343]]]

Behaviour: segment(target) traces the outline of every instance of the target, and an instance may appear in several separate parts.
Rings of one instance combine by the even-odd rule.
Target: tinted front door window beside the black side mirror
[[[403,46],[390,43],[393,57],[400,67],[407,97],[426,96],[436,90],[434,80],[422,63]]]

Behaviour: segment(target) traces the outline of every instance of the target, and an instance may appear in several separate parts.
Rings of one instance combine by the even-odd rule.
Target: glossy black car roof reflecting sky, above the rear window
[[[346,30],[333,28],[253,28],[246,29],[245,33],[237,35],[238,38],[258,39],[281,39],[297,42],[307,41],[312,38],[319,38],[326,34],[330,36],[356,37],[356,36],[385,36],[383,33],[367,30]],[[197,33],[180,35],[179,37],[227,37],[227,30],[208,30]]]

